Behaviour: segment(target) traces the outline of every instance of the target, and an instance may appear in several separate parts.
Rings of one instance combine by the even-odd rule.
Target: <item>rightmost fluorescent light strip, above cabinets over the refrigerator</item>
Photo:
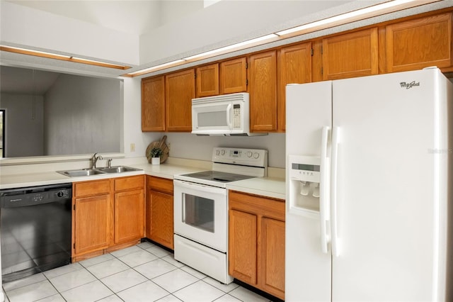
[[[311,22],[311,23],[306,23],[302,26],[297,26],[294,28],[289,28],[286,30],[281,30],[277,32],[277,35],[289,35],[292,33],[297,33],[294,35],[301,35],[304,30],[309,30],[311,28],[316,28],[316,30],[323,29],[325,27],[323,26],[335,26],[335,25],[340,25],[352,21],[357,21],[362,18],[371,18],[373,16],[379,15],[379,13],[389,13],[391,11],[395,11],[396,6],[402,6],[399,9],[408,9],[409,7],[412,6],[419,6],[422,4],[428,4],[430,2],[437,2],[439,0],[428,0],[428,1],[420,1],[420,0],[394,0],[394,1],[388,1],[383,4],[377,4],[374,6],[368,6],[365,7],[365,9],[357,9],[357,11],[350,11],[349,13],[342,13],[338,16],[333,16],[330,18],[326,18],[323,20]],[[413,2],[412,4],[410,4]],[[409,5],[406,5],[409,4]],[[390,10],[389,9],[393,9]],[[287,37],[285,37],[287,38]]]

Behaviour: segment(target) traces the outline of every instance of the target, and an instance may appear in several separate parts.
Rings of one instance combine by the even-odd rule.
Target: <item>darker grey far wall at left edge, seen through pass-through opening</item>
[[[42,96],[1,94],[6,109],[5,157],[44,155]]]

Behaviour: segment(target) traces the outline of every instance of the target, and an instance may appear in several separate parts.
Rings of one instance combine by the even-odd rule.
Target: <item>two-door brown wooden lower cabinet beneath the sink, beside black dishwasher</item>
[[[72,262],[144,237],[144,175],[73,184]]]

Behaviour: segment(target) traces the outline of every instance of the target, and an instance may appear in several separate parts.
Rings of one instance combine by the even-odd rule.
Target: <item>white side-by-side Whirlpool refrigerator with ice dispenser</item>
[[[287,85],[286,301],[453,301],[453,87]]]

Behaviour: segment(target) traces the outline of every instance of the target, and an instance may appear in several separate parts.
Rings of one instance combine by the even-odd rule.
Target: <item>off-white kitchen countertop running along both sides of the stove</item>
[[[173,179],[176,174],[201,172],[207,169],[201,167],[180,166],[176,164],[127,164],[127,166],[143,169],[143,171],[97,174],[88,177],[67,177],[55,171],[1,174],[0,189],[13,189],[25,186],[42,186],[47,184],[63,184],[77,181],[91,181],[113,177],[128,177],[133,175],[147,174],[154,177]],[[285,200],[285,179],[275,177],[257,177],[234,181],[226,185],[227,189],[241,191],[249,194],[280,198]]]

